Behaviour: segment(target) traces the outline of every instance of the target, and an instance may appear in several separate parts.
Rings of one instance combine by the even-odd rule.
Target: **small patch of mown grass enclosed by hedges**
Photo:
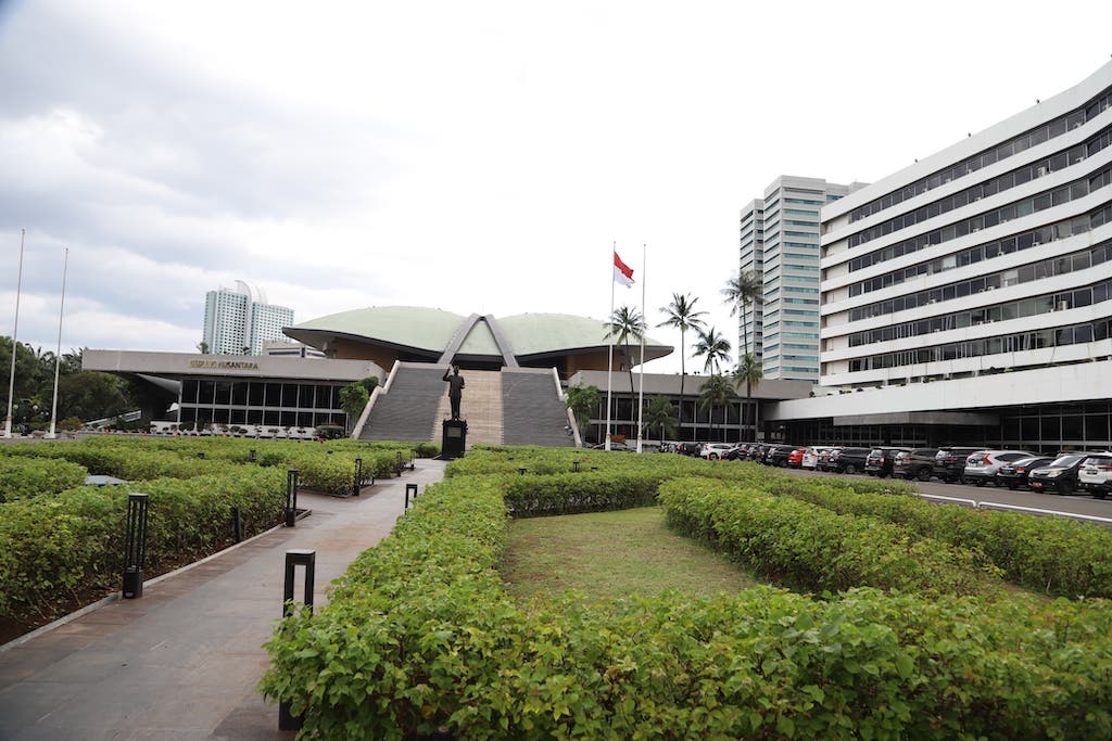
[[[666,590],[709,597],[758,583],[725,555],[668,530],[658,507],[515,520],[502,574],[517,598],[572,588],[599,601]]]

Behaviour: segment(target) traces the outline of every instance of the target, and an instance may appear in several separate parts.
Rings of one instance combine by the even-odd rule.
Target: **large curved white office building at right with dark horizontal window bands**
[[[820,395],[772,417],[816,441],[1108,447],[1110,108],[1112,63],[825,207]]]

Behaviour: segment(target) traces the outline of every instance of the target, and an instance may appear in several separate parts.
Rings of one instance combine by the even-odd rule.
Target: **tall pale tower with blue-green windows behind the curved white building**
[[[764,301],[743,308],[737,354],[761,358],[764,378],[818,380],[818,211],[860,187],[781,176],[742,210],[741,270]]]

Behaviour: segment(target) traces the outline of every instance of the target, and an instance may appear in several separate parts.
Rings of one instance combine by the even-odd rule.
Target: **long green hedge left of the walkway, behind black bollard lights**
[[[0,504],[0,615],[52,619],[75,600],[120,588],[128,494],[150,494],[146,573],[157,575],[232,542],[231,508],[244,535],[281,520],[286,477],[240,467],[188,481],[157,479],[80,487]]]

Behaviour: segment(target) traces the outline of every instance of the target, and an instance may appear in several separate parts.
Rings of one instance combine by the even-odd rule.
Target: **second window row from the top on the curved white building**
[[[901,229],[914,227],[915,224],[926,221],[927,219],[933,219],[942,213],[949,213],[954,209],[960,209],[970,203],[974,203],[980,201],[982,198],[1002,193],[1005,190],[1011,190],[1016,186],[1022,186],[1023,183],[1031,182],[1037,178],[1044,178],[1051,172],[1056,172],[1058,170],[1063,170],[1071,164],[1078,164],[1084,161],[1085,158],[1092,157],[1096,152],[1106,149],[1110,143],[1112,143],[1112,127],[1093,136],[1088,142],[1072,147],[1068,151],[1062,151],[1037,162],[1025,164],[1022,168],[1012,170],[1011,172],[1005,172],[1004,174],[992,178],[991,180],[985,180],[984,182],[980,182],[975,186],[966,188],[965,190],[960,190],[953,196],[947,196],[946,198],[934,201],[933,203],[921,206],[914,211],[901,213],[900,216],[888,219],[887,221],[882,221],[881,223],[870,227],[868,229],[863,229],[855,234],[851,234],[850,247],[858,247],[871,240],[891,234],[892,232],[900,231]]]

